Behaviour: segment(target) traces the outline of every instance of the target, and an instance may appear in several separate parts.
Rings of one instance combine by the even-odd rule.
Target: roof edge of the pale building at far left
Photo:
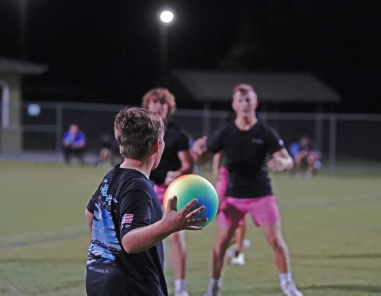
[[[0,57],[0,73],[15,73],[24,75],[40,75],[49,70],[47,65]]]

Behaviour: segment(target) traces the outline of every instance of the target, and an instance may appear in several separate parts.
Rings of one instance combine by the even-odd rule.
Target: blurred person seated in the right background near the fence
[[[295,162],[296,173],[302,173],[302,168],[307,167],[307,176],[312,176],[320,166],[320,153],[308,136],[304,136],[298,143],[292,144],[290,154]]]

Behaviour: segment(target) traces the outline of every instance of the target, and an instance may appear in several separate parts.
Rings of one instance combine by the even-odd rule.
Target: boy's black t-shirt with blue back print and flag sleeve
[[[87,270],[99,273],[97,281],[115,286],[123,278],[130,287],[128,295],[168,296],[162,242],[138,254],[126,253],[121,244],[128,231],[162,218],[152,182],[137,170],[117,165],[106,174],[87,209],[94,214]]]

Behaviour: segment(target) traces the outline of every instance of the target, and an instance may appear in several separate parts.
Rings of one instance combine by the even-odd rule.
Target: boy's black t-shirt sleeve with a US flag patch
[[[152,201],[142,190],[127,191],[120,199],[120,238],[132,229],[148,226],[151,222]]]

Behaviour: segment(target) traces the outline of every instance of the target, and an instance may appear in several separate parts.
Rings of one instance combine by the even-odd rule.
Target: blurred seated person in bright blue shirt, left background
[[[71,155],[75,155],[84,164],[86,137],[77,125],[71,125],[65,132],[62,145],[65,163],[69,164]]]

